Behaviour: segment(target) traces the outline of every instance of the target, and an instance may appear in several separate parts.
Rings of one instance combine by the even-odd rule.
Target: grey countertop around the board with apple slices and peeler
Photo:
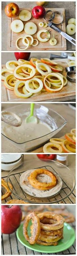
[[[8,17],[5,14],[5,7],[9,2],[2,2],[2,50],[7,50],[7,40],[8,40]],[[36,6],[36,2],[15,2],[20,8],[33,8]],[[73,2],[49,2],[46,5],[47,8],[65,8],[66,26],[70,18],[75,18],[75,1]],[[75,38],[75,34],[73,35]],[[67,50],[75,50],[75,46],[67,41]]]

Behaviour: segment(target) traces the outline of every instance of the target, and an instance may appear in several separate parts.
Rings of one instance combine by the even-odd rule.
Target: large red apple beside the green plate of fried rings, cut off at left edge
[[[1,230],[3,234],[11,234],[19,227],[22,210],[18,205],[1,206]]]

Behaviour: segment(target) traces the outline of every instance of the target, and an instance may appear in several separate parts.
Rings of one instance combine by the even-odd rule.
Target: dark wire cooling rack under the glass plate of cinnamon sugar
[[[38,167],[38,168],[41,168],[41,167]],[[43,166],[43,168],[49,169],[50,171],[54,170],[54,172],[56,174],[58,174],[57,171],[51,166]],[[28,199],[29,199],[30,203],[37,203],[37,204],[42,204],[42,203],[48,203],[48,204],[50,204],[50,203],[51,204],[52,203],[75,204],[75,198],[76,198],[75,190],[73,188],[72,191],[71,191],[70,187],[62,179],[62,177],[61,177],[62,183],[63,183],[62,188],[61,188],[60,192],[58,194],[56,194],[55,196],[53,196],[51,198],[47,198],[47,200],[46,200],[46,198],[45,199],[43,199],[43,198],[38,199],[38,198],[34,198],[32,196],[28,197],[27,194],[24,194],[23,189],[20,187],[20,182],[19,181],[20,181],[20,176],[21,176],[22,173],[23,172],[21,172],[21,169],[20,169],[20,172],[17,172],[17,173],[15,172],[13,174],[10,174],[9,182],[13,186],[13,191],[12,191],[12,194],[9,197],[9,199],[5,199],[4,201],[2,201],[2,203],[5,204],[8,200],[16,199],[15,194],[16,195],[19,194],[20,199],[25,200],[25,197],[26,197],[26,199],[27,199],[26,201],[28,201]],[[4,179],[5,179],[5,181],[7,181],[7,177],[4,177]],[[3,195],[3,193],[4,193],[4,189],[2,188],[2,195]]]

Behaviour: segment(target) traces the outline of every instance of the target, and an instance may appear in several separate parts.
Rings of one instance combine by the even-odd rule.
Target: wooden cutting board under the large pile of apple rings
[[[35,57],[35,54],[34,54]],[[55,59],[55,62],[57,62],[60,66],[63,67],[63,74],[64,76],[67,75],[65,67],[68,66],[68,59]],[[2,65],[2,68],[5,68],[5,65]],[[75,83],[71,83],[68,81],[67,86],[63,87],[63,89],[59,92],[56,93],[50,93],[50,92],[42,92],[41,94],[39,94],[38,96],[32,95],[32,97],[28,98],[28,99],[22,99],[22,98],[18,98],[13,91],[8,90],[5,88],[4,86],[4,81],[2,81],[2,102],[38,102],[38,101],[45,101],[45,100],[54,100],[58,99],[58,101],[63,101],[64,100],[67,101],[71,100],[71,97],[76,95],[76,89],[75,89]]]

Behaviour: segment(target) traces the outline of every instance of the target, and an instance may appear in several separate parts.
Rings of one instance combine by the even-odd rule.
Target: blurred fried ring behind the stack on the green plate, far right
[[[62,211],[62,210],[59,210],[57,211],[57,209],[54,211],[56,214],[60,214],[61,216],[63,216],[65,218],[65,222],[67,223],[71,223],[73,221],[75,221],[75,217],[72,213],[70,212],[65,212],[65,211]]]

